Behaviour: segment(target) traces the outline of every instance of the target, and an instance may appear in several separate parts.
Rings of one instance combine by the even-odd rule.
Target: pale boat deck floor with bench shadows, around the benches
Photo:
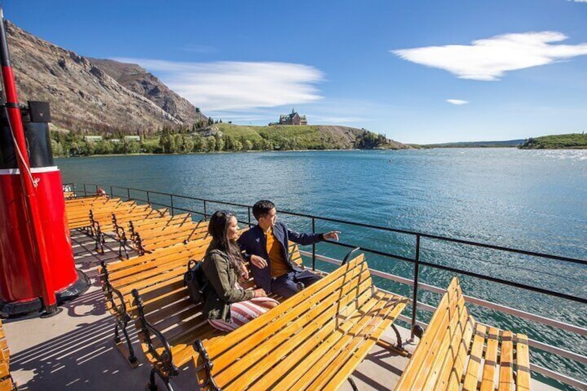
[[[114,346],[114,318],[105,307],[104,295],[97,280],[102,260],[118,260],[118,244],[107,242],[105,253],[93,251],[91,237],[72,231],[76,267],[90,278],[90,289],[79,298],[62,305],[62,311],[51,318],[17,318],[4,321],[10,347],[10,370],[19,390],[144,390],[150,374],[133,332],[135,352],[140,361],[132,369]],[[129,325],[129,331],[134,329]],[[404,340],[409,332],[401,329]],[[395,343],[388,330],[383,340]],[[406,343],[413,352],[415,343]],[[408,358],[375,345],[353,374],[359,390],[392,390],[406,367]],[[195,390],[192,365],[180,368],[172,380],[175,390]],[[159,379],[157,379],[159,381]],[[159,381],[159,390],[165,385]],[[533,381],[533,390],[554,390]],[[345,383],[341,390],[351,390]]]

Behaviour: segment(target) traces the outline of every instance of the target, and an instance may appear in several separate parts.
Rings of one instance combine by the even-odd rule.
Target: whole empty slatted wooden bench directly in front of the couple
[[[337,390],[406,298],[374,287],[359,255],[222,339],[197,340],[202,390]]]

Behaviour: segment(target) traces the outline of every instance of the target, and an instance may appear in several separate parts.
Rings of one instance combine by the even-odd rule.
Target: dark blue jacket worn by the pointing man
[[[323,240],[321,233],[316,235],[297,233],[296,231],[289,230],[289,228],[287,228],[287,226],[281,221],[276,222],[276,225],[273,226],[273,235],[281,245],[283,259],[287,262],[291,270],[294,271],[300,271],[300,268],[289,259],[287,250],[287,244],[289,241],[291,240],[291,242],[296,242],[303,246],[306,244],[314,244],[320,242],[320,240]],[[271,292],[271,260],[269,260],[269,254],[267,254],[267,241],[265,240],[265,235],[261,227],[258,225],[254,226],[250,230],[240,235],[238,244],[240,249],[244,251],[244,257],[246,260],[250,260],[251,255],[259,255],[260,257],[267,260],[267,267],[264,267],[263,269],[259,269],[257,266],[251,263],[251,271],[253,272],[255,284],[257,284],[258,287],[264,289],[267,293]]]

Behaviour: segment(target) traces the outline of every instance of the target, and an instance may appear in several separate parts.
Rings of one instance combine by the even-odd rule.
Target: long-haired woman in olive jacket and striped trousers
[[[238,283],[239,277],[248,280],[249,272],[236,244],[237,223],[235,215],[224,210],[210,217],[212,242],[202,265],[211,286],[206,290],[204,314],[210,325],[222,331],[232,331],[279,304],[263,289],[245,290]]]

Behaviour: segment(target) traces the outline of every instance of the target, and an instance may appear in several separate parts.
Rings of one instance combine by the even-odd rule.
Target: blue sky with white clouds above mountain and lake
[[[208,116],[404,143],[587,130],[587,0],[2,2],[80,55],[141,64]]]

